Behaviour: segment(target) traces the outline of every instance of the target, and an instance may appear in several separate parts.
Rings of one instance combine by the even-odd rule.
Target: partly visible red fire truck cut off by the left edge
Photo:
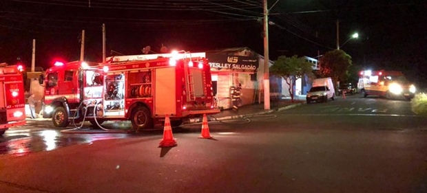
[[[0,135],[25,125],[25,96],[21,66],[0,64]]]

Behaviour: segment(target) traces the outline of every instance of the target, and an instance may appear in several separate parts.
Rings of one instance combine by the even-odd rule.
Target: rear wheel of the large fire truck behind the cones
[[[132,111],[132,127],[135,130],[152,128],[153,119],[145,106],[138,106]]]

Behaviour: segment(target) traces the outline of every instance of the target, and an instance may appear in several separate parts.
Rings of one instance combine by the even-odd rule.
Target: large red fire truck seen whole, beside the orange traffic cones
[[[130,120],[135,130],[172,126],[191,117],[219,113],[213,106],[211,71],[206,58],[157,58],[127,62],[56,63],[45,85],[43,117],[54,126],[89,121]]]

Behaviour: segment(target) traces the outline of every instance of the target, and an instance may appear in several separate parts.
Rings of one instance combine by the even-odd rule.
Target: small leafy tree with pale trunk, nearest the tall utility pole
[[[296,55],[291,58],[279,56],[278,60],[275,60],[274,64],[270,67],[269,71],[275,76],[284,78],[289,85],[289,94],[291,95],[291,102],[293,102],[293,80],[304,77],[304,74],[312,78],[312,66],[313,64],[303,57],[298,58]]]

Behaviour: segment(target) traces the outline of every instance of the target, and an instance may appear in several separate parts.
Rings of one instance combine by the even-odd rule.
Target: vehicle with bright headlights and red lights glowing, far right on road
[[[417,91],[402,71],[361,71],[357,87],[363,97],[378,95],[388,99],[410,100]]]

